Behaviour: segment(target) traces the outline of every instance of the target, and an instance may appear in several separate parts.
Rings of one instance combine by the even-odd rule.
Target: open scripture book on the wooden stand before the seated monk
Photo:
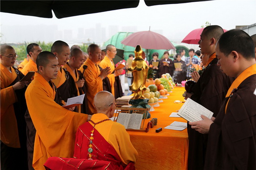
[[[141,128],[142,118],[143,118],[143,114],[119,113],[116,122],[124,125],[125,129],[137,129],[137,130],[139,130]]]

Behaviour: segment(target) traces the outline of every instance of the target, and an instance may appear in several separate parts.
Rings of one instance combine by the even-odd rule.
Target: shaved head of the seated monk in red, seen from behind
[[[94,97],[94,105],[97,111],[106,111],[112,103],[115,103],[115,97],[107,91],[98,92]]]

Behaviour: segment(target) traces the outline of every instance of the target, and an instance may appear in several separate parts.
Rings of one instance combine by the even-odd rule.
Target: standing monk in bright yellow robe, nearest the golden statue
[[[123,69],[115,70],[115,64],[113,59],[115,58],[116,48],[113,45],[108,45],[106,47],[107,54],[104,59],[101,61],[100,66],[104,69],[106,67],[110,67],[111,74],[108,75],[108,79],[111,85],[111,93],[115,96],[115,77],[120,75]]]

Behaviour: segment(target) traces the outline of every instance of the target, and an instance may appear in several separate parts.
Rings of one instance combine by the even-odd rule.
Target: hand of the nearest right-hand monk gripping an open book
[[[213,121],[203,115],[201,115],[202,120],[197,122],[189,122],[192,129],[195,129],[195,131],[198,131],[202,134],[209,133],[210,125],[213,123]]]

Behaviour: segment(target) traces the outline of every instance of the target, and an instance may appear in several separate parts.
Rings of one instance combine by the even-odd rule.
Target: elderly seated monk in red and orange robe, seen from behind
[[[94,105],[98,113],[76,132],[74,158],[51,157],[44,164],[47,170],[135,170],[138,152],[129,134],[123,125],[109,119],[115,111],[114,96],[107,91],[98,92]]]

